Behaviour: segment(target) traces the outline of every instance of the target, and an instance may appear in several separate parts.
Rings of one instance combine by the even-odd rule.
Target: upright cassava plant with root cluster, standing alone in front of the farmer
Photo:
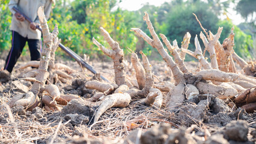
[[[32,88],[26,94],[14,96],[8,103],[10,107],[23,106],[26,110],[32,110],[34,107],[43,106],[46,110],[59,110],[58,104],[67,105],[67,103],[79,98],[78,95],[60,94],[58,80],[62,83],[73,79],[67,73],[72,73],[72,69],[64,64],[55,64],[55,50],[60,43],[58,39],[58,27],[55,25],[53,32],[49,32],[47,21],[44,16],[43,7],[38,8],[38,17],[43,31],[43,49],[41,51],[40,61],[30,61],[21,65],[19,70],[27,67],[35,67],[35,70],[26,71],[22,74],[22,79],[33,82]]]

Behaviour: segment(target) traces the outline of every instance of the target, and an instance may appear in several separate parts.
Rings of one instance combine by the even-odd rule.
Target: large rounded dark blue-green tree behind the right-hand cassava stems
[[[199,35],[202,29],[192,13],[197,15],[205,29],[216,31],[218,28],[216,26],[218,17],[209,10],[206,3],[197,1],[193,4],[183,3],[172,8],[169,11],[169,17],[166,18],[168,26],[163,25],[161,31],[169,40],[176,39],[179,46],[186,32],[189,32],[191,35],[189,49],[194,50],[195,35]]]

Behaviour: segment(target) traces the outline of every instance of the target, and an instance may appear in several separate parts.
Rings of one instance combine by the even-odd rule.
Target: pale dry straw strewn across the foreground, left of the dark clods
[[[38,122],[29,115],[26,115],[27,118],[17,113],[13,115],[10,113],[11,109],[7,109],[0,112],[0,115],[7,117],[7,123],[0,124],[0,143],[53,143],[56,137],[53,134],[58,134],[65,141],[72,139],[74,135],[70,121]],[[121,140],[137,127],[147,130],[153,125],[169,123],[178,128],[176,122],[178,119],[166,110],[135,105],[123,109],[109,109],[95,124],[74,126],[78,133],[88,138]]]

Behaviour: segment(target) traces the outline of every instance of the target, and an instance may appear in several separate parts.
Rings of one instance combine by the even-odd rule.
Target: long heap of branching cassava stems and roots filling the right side
[[[147,56],[140,52],[144,65],[143,67],[138,60],[138,56],[132,52],[131,62],[136,71],[136,80],[138,82],[137,86],[132,85],[132,82],[130,82],[129,79],[126,79],[124,74],[125,68],[123,67],[123,50],[120,49],[116,41],[112,40],[111,36],[105,29],[100,28],[103,36],[105,37],[109,46],[111,46],[112,50],[106,49],[94,38],[93,43],[96,44],[96,46],[99,47],[103,53],[113,59],[115,83],[119,86],[119,88],[122,88],[123,91],[116,92],[117,90],[115,90],[115,88],[112,86],[113,84],[111,83],[102,84],[98,82],[97,85],[94,85],[94,88],[93,86],[87,86],[87,88],[97,89],[98,91],[103,92],[100,94],[97,93],[94,96],[94,98],[103,97],[100,108],[96,112],[94,122],[97,122],[100,115],[102,115],[102,113],[110,107],[127,106],[130,103],[130,100],[133,100],[130,104],[145,104],[159,108],[162,107],[162,104],[165,104],[169,110],[174,110],[177,104],[183,103],[185,99],[194,97],[198,94],[213,94],[219,98],[229,98],[230,100],[233,99],[236,101],[237,106],[242,106],[242,108],[244,108],[247,112],[254,112],[256,95],[254,90],[255,88],[253,86],[255,86],[256,80],[254,77],[246,76],[245,74],[238,74],[236,72],[232,58],[233,54],[236,55],[233,50],[234,28],[231,29],[230,36],[226,38],[222,44],[218,41],[219,37],[221,37],[222,28],[218,29],[216,35],[209,32],[210,35],[207,35],[207,37],[203,34],[203,32],[201,32],[200,38],[204,43],[205,50],[207,50],[210,54],[210,63],[204,57],[205,52],[202,52],[197,35],[195,36],[196,50],[195,52],[192,52],[187,49],[189,47],[191,37],[189,32],[187,32],[184,36],[181,48],[178,47],[176,40],[174,40],[173,45],[171,45],[165,35],[160,34],[163,43],[165,43],[169,52],[173,56],[173,60],[154,31],[153,25],[150,22],[150,18],[148,17],[147,13],[145,13],[144,20],[147,23],[148,30],[150,31],[152,38],[148,37],[148,35],[141,31],[141,29],[132,28],[132,31],[139,35],[139,37],[142,37],[148,44],[150,44],[150,46],[157,49],[168,67],[171,68],[175,83],[154,83],[153,76],[151,74],[151,65],[147,59]],[[203,28],[203,26],[201,26],[201,28]],[[197,58],[203,69],[200,68],[197,73],[191,73],[187,69],[186,65],[184,65],[186,53]],[[246,64],[244,64],[244,66],[245,65]],[[166,95],[166,101],[163,101],[163,99],[165,99],[163,98],[164,91],[169,91]],[[250,92],[248,93],[248,91]],[[238,95],[239,97],[237,97]],[[136,101],[138,98],[140,100]],[[231,101],[230,103],[233,103],[234,101]],[[244,104],[246,105],[243,106]]]

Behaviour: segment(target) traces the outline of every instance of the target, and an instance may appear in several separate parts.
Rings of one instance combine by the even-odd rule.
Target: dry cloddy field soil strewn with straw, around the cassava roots
[[[58,60],[69,65],[75,77],[58,83],[62,94],[76,94],[79,100],[70,101],[61,110],[47,112],[43,104],[32,111],[22,106],[5,107],[14,95],[28,92],[31,82],[21,79],[26,70],[14,71],[10,79],[0,82],[0,143],[255,143],[256,113],[229,107],[230,101],[215,95],[193,95],[178,109],[167,110],[141,104],[108,109],[93,124],[99,102],[86,101],[97,91],[85,88],[88,80],[96,79],[74,61]],[[18,62],[17,67],[24,62]],[[150,61],[154,82],[172,82],[171,70],[164,62]],[[4,60],[0,59],[0,66]],[[112,62],[90,62],[94,69],[114,82]],[[186,62],[189,70],[197,71],[196,62]],[[127,62],[126,74],[135,78]],[[157,79],[156,79],[157,77]],[[189,79],[195,84],[198,79]],[[9,110],[9,111],[8,111]]]

